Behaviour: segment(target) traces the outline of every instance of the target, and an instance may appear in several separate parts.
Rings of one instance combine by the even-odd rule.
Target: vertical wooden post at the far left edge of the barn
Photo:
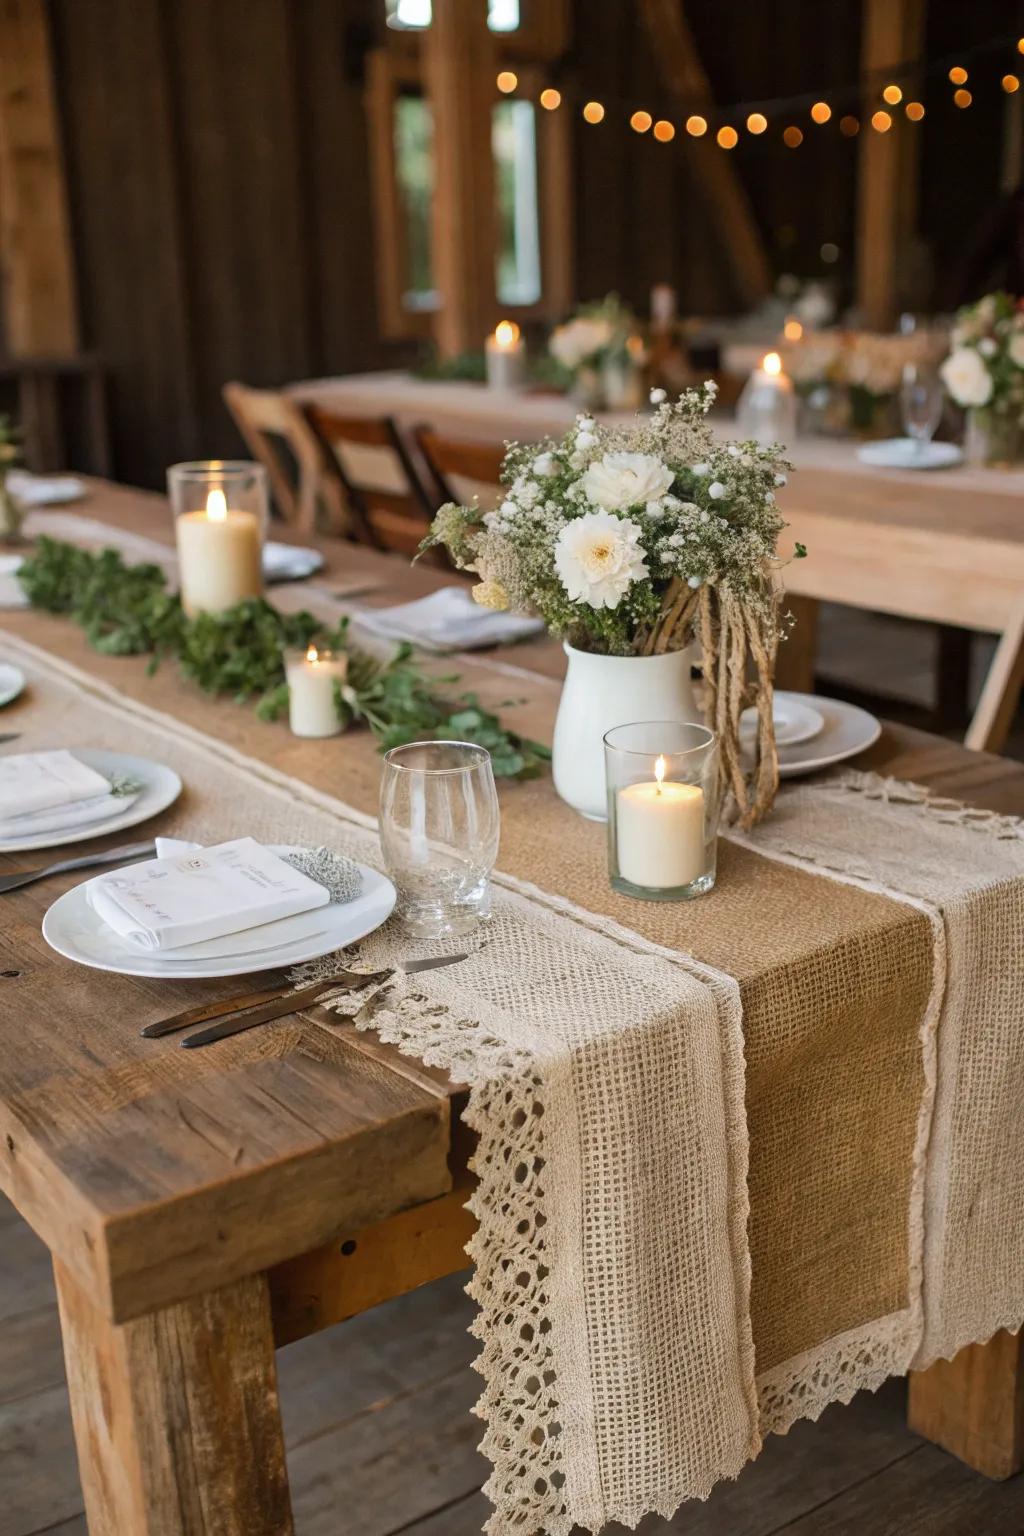
[[[0,0],[0,283],[12,356],[78,346],[45,0]]]

